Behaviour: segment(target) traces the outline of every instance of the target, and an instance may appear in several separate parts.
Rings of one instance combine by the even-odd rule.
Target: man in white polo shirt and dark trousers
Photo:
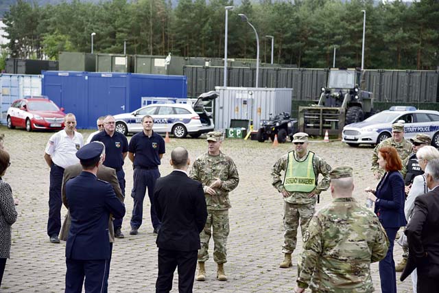
[[[76,152],[84,145],[82,134],[76,132],[76,117],[72,113],[64,117],[64,130],[52,135],[47,142],[44,159],[50,167],[49,220],[47,235],[51,243],[60,243],[61,185],[64,169],[79,163]]]

